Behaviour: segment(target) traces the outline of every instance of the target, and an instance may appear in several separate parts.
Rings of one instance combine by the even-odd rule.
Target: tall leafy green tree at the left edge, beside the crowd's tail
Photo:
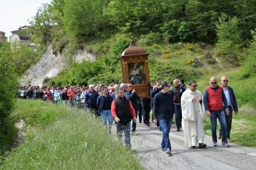
[[[11,111],[17,99],[17,77],[28,69],[26,60],[33,54],[31,49],[27,45],[11,44],[6,40],[0,45],[0,155],[15,138]]]

